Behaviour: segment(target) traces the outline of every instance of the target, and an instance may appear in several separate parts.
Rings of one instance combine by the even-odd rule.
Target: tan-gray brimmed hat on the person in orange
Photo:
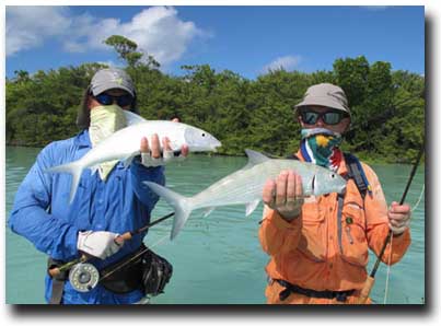
[[[303,101],[294,107],[299,109],[302,106],[312,105],[332,107],[350,114],[345,92],[339,86],[329,83],[310,86],[304,93]]]

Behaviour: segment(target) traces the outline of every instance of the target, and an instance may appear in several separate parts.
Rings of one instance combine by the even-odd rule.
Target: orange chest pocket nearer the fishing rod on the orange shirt
[[[340,223],[340,254],[349,264],[368,265],[368,240],[365,233],[364,209],[361,202],[345,202]]]

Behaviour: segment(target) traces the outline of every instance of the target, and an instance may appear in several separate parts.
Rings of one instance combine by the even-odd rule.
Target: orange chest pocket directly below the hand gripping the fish
[[[305,202],[302,209],[302,234],[298,249],[313,261],[326,259],[326,224],[318,203]]]

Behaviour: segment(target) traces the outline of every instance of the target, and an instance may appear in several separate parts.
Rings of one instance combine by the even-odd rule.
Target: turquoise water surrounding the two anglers
[[[35,161],[39,149],[7,148],[7,217],[15,191]],[[245,158],[193,155],[166,168],[167,186],[183,195],[194,195],[219,178],[241,168]],[[408,165],[373,165],[382,181],[388,202],[399,200],[407,182]],[[417,171],[407,201],[417,202],[425,172]],[[165,256],[174,267],[173,279],[164,294],[153,303],[162,304],[259,304],[265,303],[268,256],[257,238],[262,203],[245,218],[245,208],[222,207],[209,217],[194,212],[179,235],[170,242],[171,221],[152,228],[146,244]],[[160,200],[153,219],[171,211]],[[406,256],[391,268],[387,303],[419,304],[425,300],[425,197],[413,213],[413,244]],[[31,243],[7,229],[7,303],[44,303],[46,256]],[[374,264],[371,256],[370,266]],[[370,268],[371,269],[371,268]],[[369,270],[370,270],[369,269]],[[372,299],[383,303],[387,267],[381,265]]]

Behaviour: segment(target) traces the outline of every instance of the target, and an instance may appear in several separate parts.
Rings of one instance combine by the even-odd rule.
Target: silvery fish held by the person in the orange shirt
[[[193,210],[207,208],[210,214],[216,207],[245,205],[249,216],[262,200],[262,191],[268,178],[276,178],[285,170],[293,170],[302,177],[303,195],[320,196],[329,193],[343,193],[346,181],[333,171],[295,160],[272,160],[262,153],[245,150],[248,164],[193,197],[184,197],[155,183],[144,182],[156,195],[175,210],[171,238],[184,226]]]

